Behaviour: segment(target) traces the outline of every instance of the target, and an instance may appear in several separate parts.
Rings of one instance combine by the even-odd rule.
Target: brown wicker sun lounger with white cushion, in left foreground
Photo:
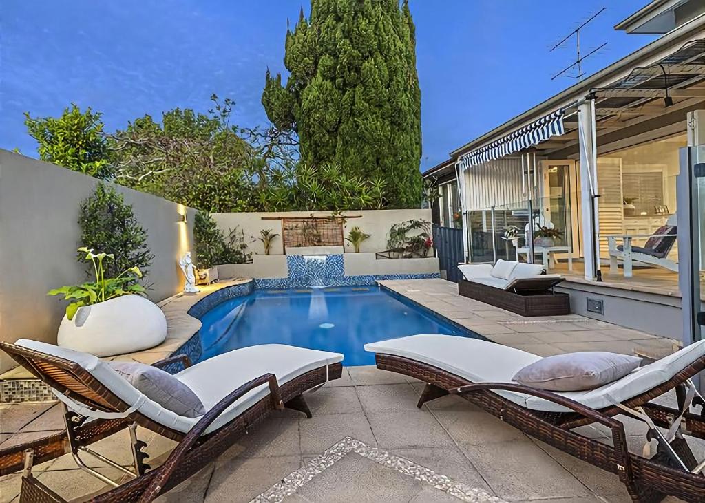
[[[33,462],[61,455],[64,447],[68,447],[80,468],[113,486],[92,501],[152,501],[218,457],[271,411],[289,408],[310,417],[302,393],[340,378],[343,359],[338,353],[263,344],[187,365],[175,376],[196,393],[207,410],[203,416],[187,418],[152,402],[95,356],[30,340],[0,342],[0,349],[59,392],[64,402],[66,436],[54,435],[44,445],[35,444],[25,453],[16,452],[25,457],[20,502],[64,501],[32,476]],[[162,364],[173,364],[181,358],[177,356]],[[73,406],[67,407],[66,402]],[[147,454],[142,448],[146,444],[137,440],[137,426],[178,442],[161,466],[149,469],[145,464]],[[87,447],[124,428],[130,430],[133,470]],[[118,485],[86,466],[79,454],[99,457],[130,480]],[[16,466],[15,457],[2,461],[5,473]]]

